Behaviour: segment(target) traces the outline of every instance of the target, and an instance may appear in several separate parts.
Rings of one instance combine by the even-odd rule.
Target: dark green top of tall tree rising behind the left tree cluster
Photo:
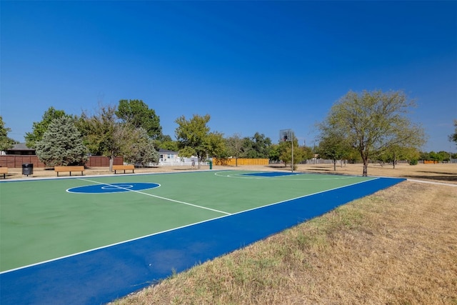
[[[132,124],[135,128],[143,128],[149,137],[159,139],[162,134],[160,118],[154,109],[141,101],[141,99],[121,99],[116,110],[116,116],[125,123]]]

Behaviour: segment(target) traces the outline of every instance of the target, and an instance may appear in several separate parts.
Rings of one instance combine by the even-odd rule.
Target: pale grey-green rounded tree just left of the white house
[[[124,160],[130,164],[140,164],[146,166],[149,163],[159,161],[159,152],[154,148],[154,141],[149,138],[146,130],[134,129],[129,138],[129,143],[123,145]]]

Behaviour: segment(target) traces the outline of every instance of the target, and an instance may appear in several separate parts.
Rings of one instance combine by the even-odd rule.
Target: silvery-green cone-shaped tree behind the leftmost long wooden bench
[[[69,116],[52,120],[43,139],[36,142],[36,156],[46,166],[84,165],[87,153],[74,119]]]

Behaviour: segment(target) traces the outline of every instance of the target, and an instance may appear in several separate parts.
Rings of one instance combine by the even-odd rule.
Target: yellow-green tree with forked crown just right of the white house
[[[179,155],[196,156],[199,169],[201,168],[201,161],[204,161],[209,155],[216,155],[224,148],[222,134],[209,132],[210,128],[206,124],[210,119],[209,114],[204,116],[194,114],[192,119],[187,120],[185,116],[180,116],[175,121],[178,124],[175,135]]]

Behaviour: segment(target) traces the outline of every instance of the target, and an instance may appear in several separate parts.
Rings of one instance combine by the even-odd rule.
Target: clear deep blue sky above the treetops
[[[54,106],[142,99],[174,139],[179,116],[211,131],[315,124],[349,90],[403,90],[424,151],[456,151],[456,1],[1,1],[0,115],[24,141]]]

